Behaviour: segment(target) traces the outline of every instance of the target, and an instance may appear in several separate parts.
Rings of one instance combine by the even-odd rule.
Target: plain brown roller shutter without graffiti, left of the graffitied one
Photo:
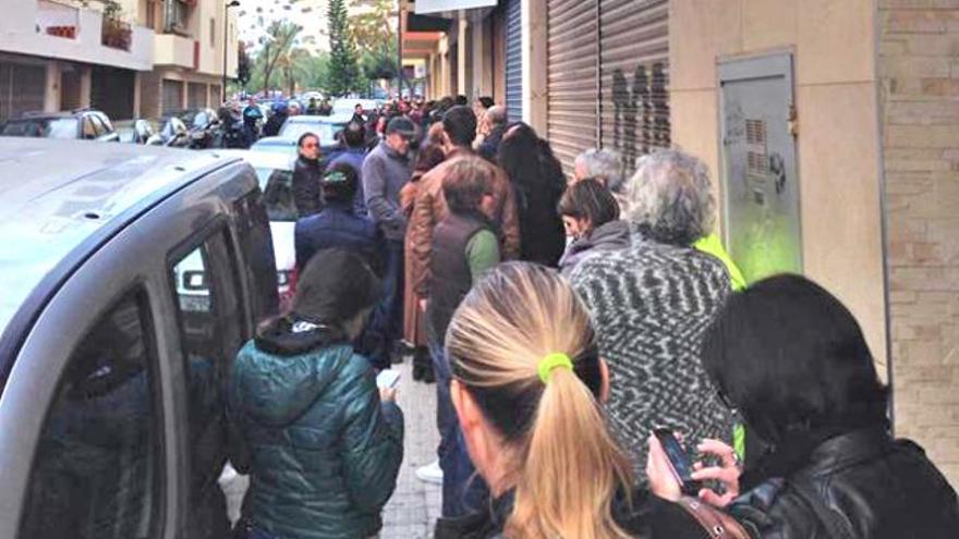
[[[546,136],[567,173],[597,143],[597,0],[548,0]]]

